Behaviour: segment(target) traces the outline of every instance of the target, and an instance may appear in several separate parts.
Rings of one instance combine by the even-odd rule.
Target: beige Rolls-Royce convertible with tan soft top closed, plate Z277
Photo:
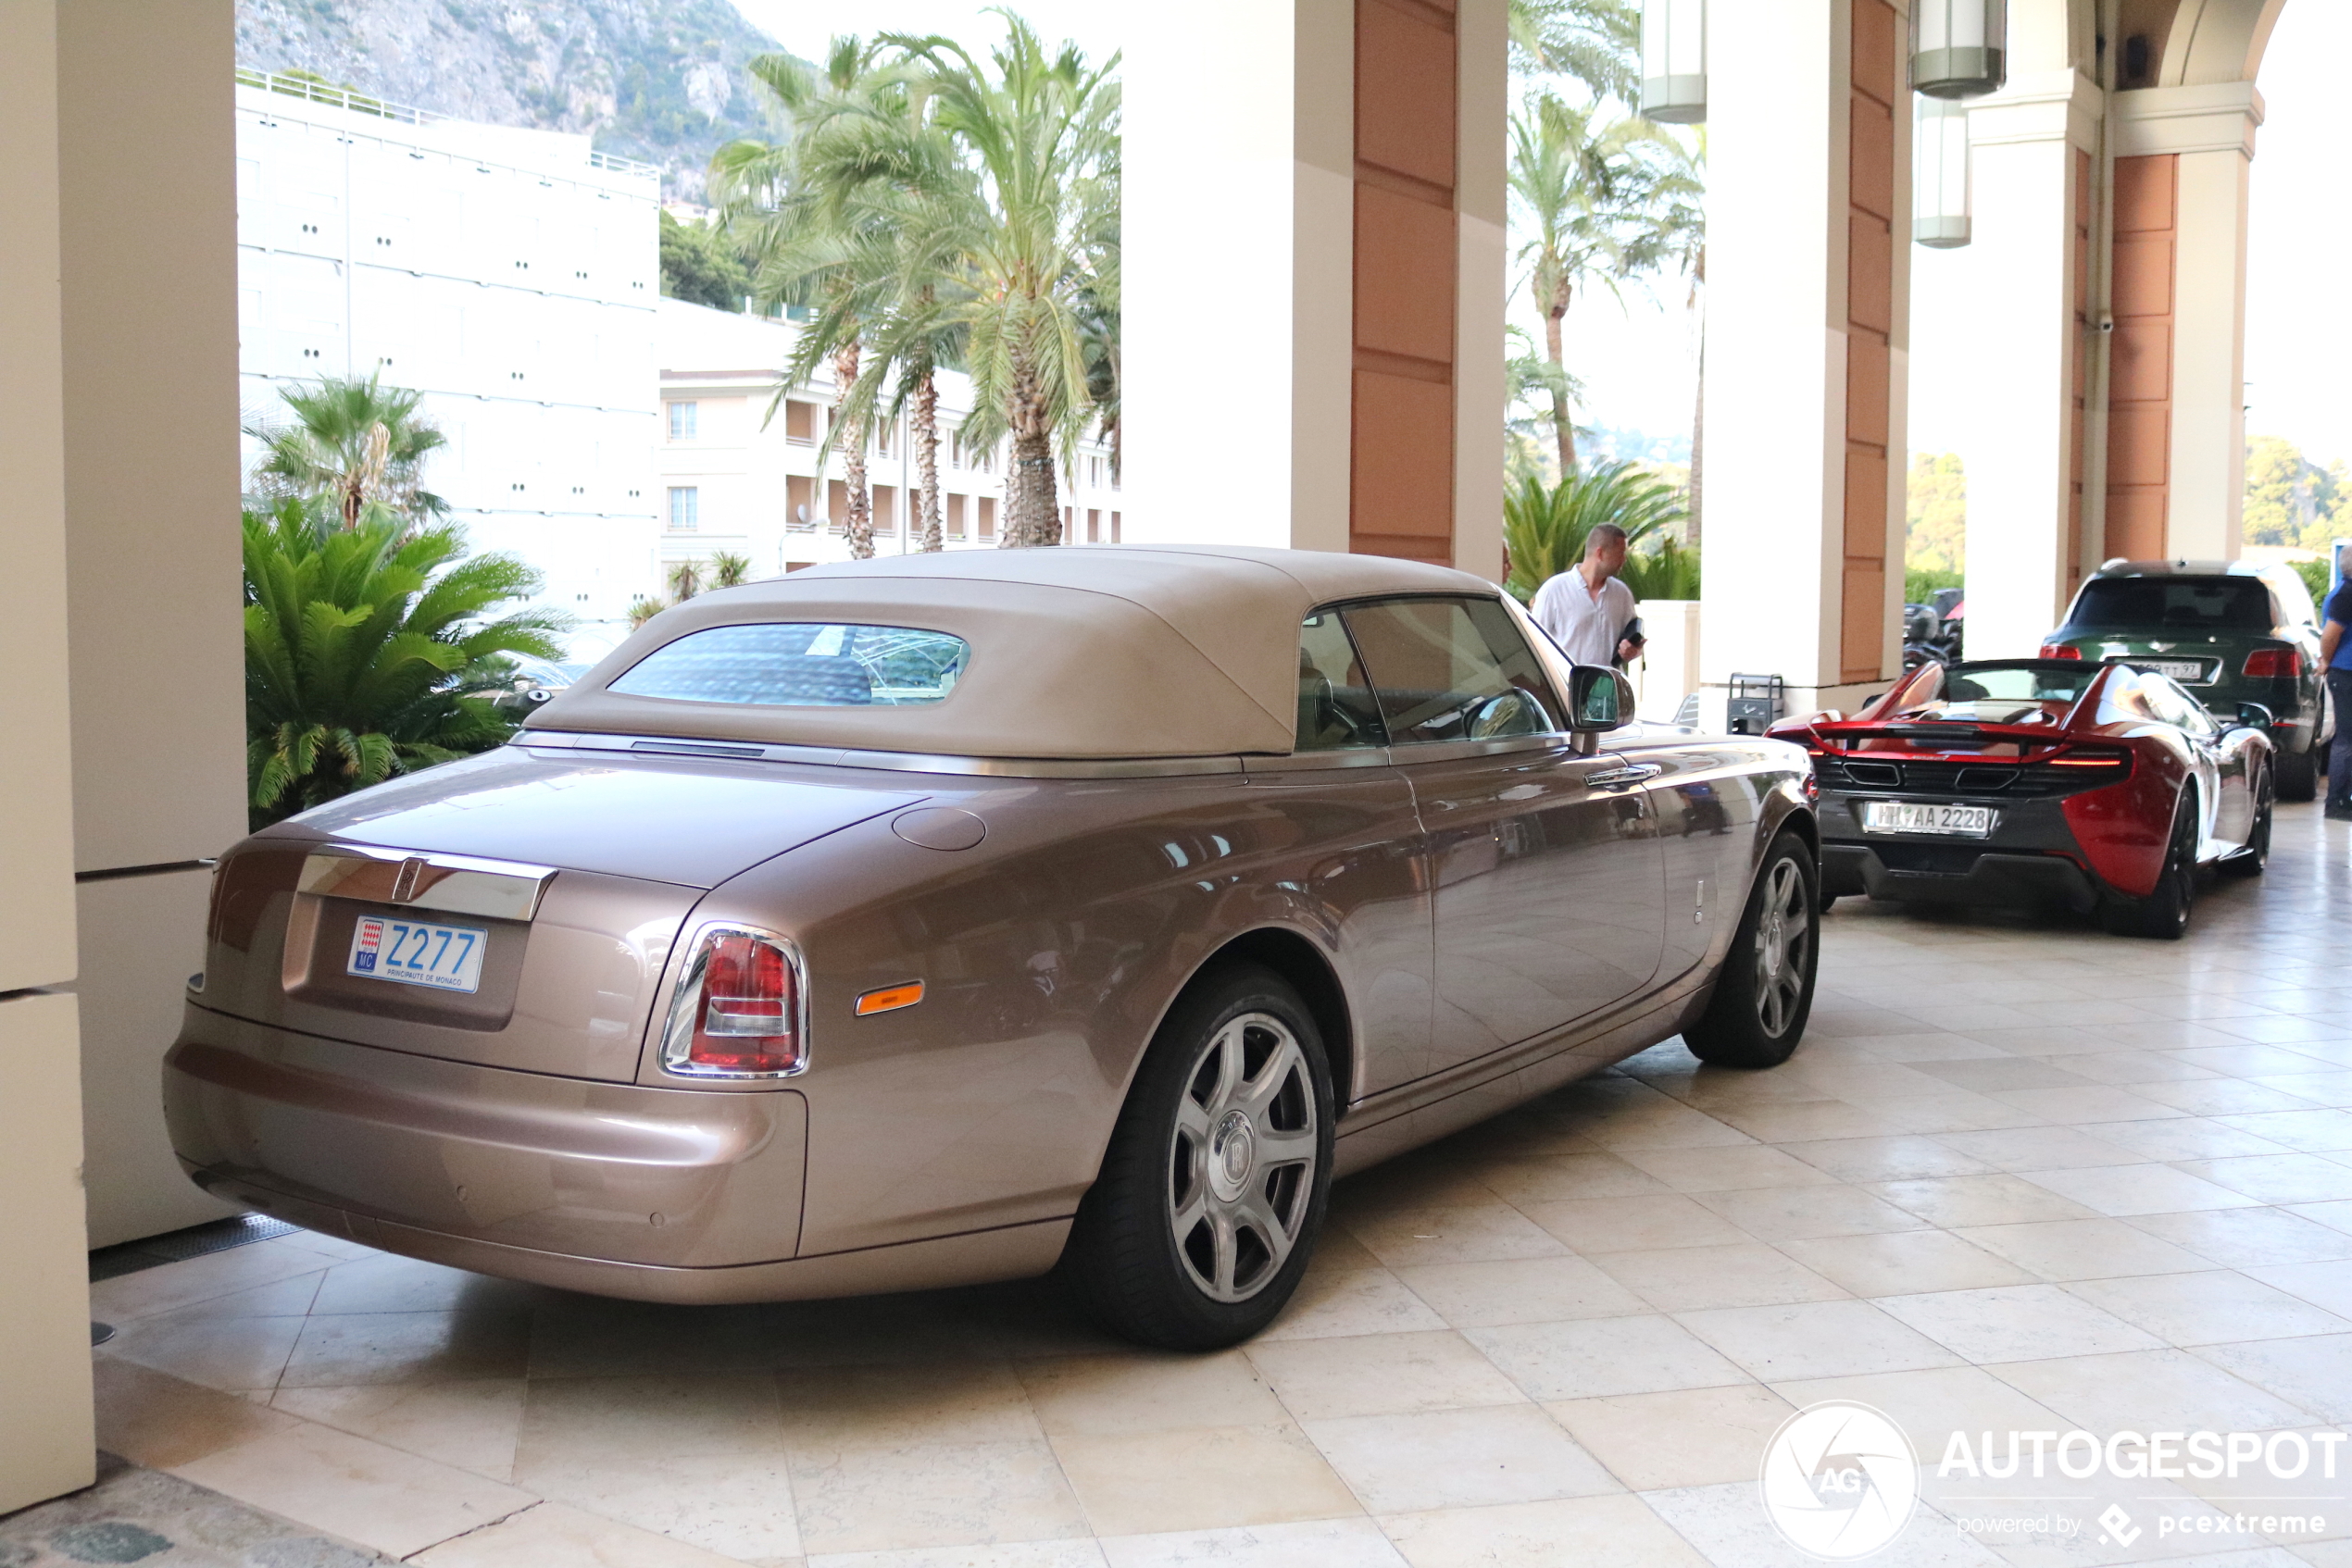
[[[252,835],[165,1067],[207,1190],[576,1291],[1061,1265],[1265,1326],[1331,1180],[1804,1032],[1804,752],[1632,724],[1491,583],[1247,548],[851,562]]]

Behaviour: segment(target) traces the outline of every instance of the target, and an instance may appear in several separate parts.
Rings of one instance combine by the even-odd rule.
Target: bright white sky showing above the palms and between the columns
[[[1122,45],[1122,16],[1134,0],[1021,0],[1018,9],[1051,38],[1073,38],[1089,54]],[[736,7],[788,49],[814,56],[833,28],[854,19],[880,28],[936,31],[988,45],[1002,24],[957,0],[866,0],[856,9],[811,0],[736,0]],[[2246,430],[2286,435],[2319,463],[2352,461],[2352,292],[2338,284],[2352,254],[2352,202],[2343,200],[2347,165],[2340,113],[2326,78],[2352,59],[2352,5],[2296,0],[2270,42],[2263,94],[2270,120],[2253,160],[2253,219],[2246,289]],[[1947,308],[1964,289],[1966,252],[1912,249],[1912,449],[1957,451],[1969,444],[1969,409],[1992,388],[1997,367],[1978,369],[1964,336],[1964,310]],[[1512,268],[1510,320],[1536,329],[1524,280]],[[1943,308],[1940,308],[1943,306]],[[1569,310],[1569,369],[1585,383],[1585,418],[1646,435],[1689,435],[1698,390],[1696,315],[1679,280],[1632,284],[1623,299],[1592,294]]]

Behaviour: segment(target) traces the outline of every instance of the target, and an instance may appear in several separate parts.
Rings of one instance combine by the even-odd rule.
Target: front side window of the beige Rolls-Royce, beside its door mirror
[[[1350,604],[1345,618],[1395,745],[1562,729],[1543,665],[1494,599]]]

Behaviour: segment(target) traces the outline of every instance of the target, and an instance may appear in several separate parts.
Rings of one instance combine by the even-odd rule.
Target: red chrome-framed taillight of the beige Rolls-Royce
[[[800,954],[769,931],[703,926],[670,999],[661,1067],[699,1079],[781,1079],[809,1063]]]

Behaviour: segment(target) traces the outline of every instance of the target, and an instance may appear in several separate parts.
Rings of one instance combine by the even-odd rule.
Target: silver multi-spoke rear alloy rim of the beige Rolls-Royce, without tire
[[[1225,1023],[1185,1072],[1167,1213],[1176,1255],[1214,1300],[1249,1300],[1298,1244],[1319,1147],[1310,1072],[1270,1013]]]

